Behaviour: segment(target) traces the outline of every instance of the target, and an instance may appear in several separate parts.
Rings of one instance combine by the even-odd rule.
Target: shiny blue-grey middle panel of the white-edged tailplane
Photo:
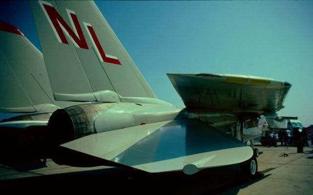
[[[141,139],[112,161],[133,166],[227,148],[243,147],[239,140],[227,137],[198,120],[174,120]]]

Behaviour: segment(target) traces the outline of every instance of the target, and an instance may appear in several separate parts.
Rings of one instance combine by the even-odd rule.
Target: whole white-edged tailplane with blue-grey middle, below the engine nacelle
[[[93,134],[61,145],[146,172],[218,167],[243,162],[251,147],[200,120],[172,120]],[[194,169],[193,169],[194,170]]]

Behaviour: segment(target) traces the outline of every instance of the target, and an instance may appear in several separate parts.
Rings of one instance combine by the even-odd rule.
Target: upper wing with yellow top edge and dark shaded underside
[[[167,74],[187,108],[230,112],[276,112],[288,82],[242,75]]]

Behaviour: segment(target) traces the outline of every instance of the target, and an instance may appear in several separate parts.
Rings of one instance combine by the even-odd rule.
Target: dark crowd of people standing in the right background
[[[297,153],[303,153],[304,146],[312,146],[313,144],[313,128],[303,127],[302,131],[299,131],[299,127],[293,127],[290,129],[280,129],[278,132],[269,131],[268,135],[268,147],[280,146],[294,146],[297,147]],[[309,141],[311,140],[311,144]]]

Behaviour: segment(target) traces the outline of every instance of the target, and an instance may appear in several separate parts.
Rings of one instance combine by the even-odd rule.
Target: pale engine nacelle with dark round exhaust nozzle
[[[48,123],[54,144],[152,122],[175,119],[181,108],[139,103],[89,103],[55,111]]]

